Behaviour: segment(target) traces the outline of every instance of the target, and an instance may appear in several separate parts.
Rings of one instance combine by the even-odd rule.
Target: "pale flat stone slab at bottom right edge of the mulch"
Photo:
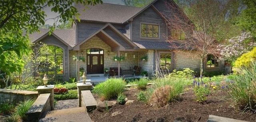
[[[207,122],[248,122],[248,121],[236,120],[236,119],[232,119],[232,118],[209,115],[209,118],[208,118]]]

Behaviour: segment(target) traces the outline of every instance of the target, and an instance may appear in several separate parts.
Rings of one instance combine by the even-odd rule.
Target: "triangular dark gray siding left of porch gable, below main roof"
[[[77,23],[77,40],[78,44],[92,35],[105,25],[105,23],[78,22]]]

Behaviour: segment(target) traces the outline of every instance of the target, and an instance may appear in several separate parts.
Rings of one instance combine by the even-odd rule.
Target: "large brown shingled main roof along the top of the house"
[[[75,4],[75,7],[81,14],[79,16],[81,20],[110,23],[123,23],[143,10],[143,8],[108,3],[87,6],[88,8],[82,4]]]

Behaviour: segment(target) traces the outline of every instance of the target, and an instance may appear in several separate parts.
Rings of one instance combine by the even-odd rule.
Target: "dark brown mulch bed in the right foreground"
[[[209,115],[234,118],[249,122],[256,122],[256,114],[235,110],[227,99],[224,90],[212,92],[203,104],[196,102],[191,89],[186,89],[181,95],[182,100],[168,104],[162,108],[148,106],[137,100],[138,90],[126,90],[124,94],[129,100],[134,100],[130,105],[116,104],[109,112],[93,110],[89,113],[93,122],[207,122]],[[112,117],[113,112],[122,112]]]

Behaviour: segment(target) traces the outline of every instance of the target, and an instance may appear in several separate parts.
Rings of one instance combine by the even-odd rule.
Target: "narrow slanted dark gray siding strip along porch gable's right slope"
[[[105,28],[104,31],[110,35],[114,40],[116,40],[119,44],[124,46],[126,49],[132,49],[132,46],[130,46],[123,38],[121,38],[116,32],[111,30],[110,28]]]

